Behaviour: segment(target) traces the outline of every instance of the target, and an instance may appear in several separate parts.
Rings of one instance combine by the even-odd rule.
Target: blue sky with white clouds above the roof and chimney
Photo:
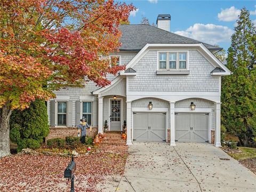
[[[138,10],[130,15],[131,24],[139,24],[141,17],[156,23],[158,14],[171,14],[171,31],[199,41],[218,44],[225,50],[230,46],[239,10],[251,11],[256,23],[256,1],[121,1],[132,3]]]

